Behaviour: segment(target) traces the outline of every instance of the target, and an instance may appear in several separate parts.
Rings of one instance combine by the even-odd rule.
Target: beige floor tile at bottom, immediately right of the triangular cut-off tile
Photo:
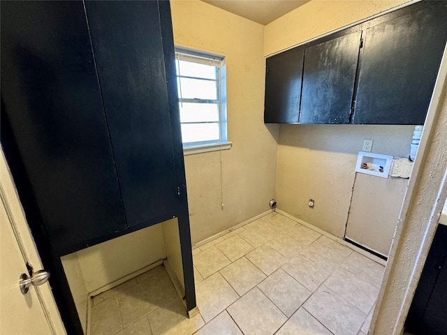
[[[325,285],[303,307],[335,335],[357,335],[367,316]]]

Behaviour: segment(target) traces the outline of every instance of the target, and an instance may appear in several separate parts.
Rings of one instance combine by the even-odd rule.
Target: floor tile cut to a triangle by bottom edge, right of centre
[[[332,333],[304,308],[300,308],[276,335],[332,335]]]

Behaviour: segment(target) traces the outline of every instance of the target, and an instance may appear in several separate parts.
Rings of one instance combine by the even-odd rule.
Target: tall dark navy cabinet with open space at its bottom
[[[1,145],[69,334],[60,257],[177,217],[196,307],[168,1],[1,1]]]

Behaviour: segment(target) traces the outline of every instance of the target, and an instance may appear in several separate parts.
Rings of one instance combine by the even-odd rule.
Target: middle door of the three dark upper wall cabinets
[[[348,124],[360,31],[305,51],[300,124]]]

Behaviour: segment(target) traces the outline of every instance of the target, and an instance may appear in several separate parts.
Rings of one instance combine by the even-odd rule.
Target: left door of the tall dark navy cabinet
[[[1,1],[1,144],[57,255],[126,226],[99,92],[82,1]]]

